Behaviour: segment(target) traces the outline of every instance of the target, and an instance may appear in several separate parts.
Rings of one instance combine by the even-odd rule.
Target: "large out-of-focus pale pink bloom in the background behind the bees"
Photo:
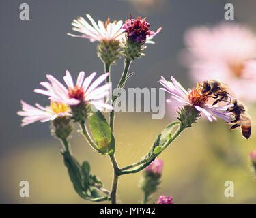
[[[194,27],[185,33],[185,44],[183,60],[193,80],[220,80],[237,97],[256,100],[256,35],[248,27],[232,22]]]

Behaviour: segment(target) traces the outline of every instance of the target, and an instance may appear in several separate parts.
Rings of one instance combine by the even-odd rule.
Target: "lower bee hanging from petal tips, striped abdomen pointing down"
[[[235,116],[235,119],[228,123],[233,124],[230,130],[241,127],[242,135],[248,139],[251,136],[251,119],[245,106],[237,99],[233,99],[229,104],[233,104],[233,106],[228,108],[227,112],[231,112]]]

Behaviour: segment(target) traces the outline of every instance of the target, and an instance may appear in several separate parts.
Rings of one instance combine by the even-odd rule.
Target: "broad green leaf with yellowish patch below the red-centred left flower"
[[[113,155],[115,152],[115,138],[112,135],[111,127],[109,127],[100,111],[93,112],[89,116],[89,127],[98,146],[98,151],[104,155]]]

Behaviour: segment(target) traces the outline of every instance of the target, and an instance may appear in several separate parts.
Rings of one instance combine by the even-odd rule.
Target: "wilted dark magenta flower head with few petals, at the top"
[[[150,24],[146,22],[145,19],[146,18],[142,19],[138,16],[137,19],[132,19],[132,16],[130,16],[130,19],[126,20],[123,25],[123,29],[125,29],[127,33],[128,40],[134,40],[135,42],[139,43],[154,43],[149,40],[151,40],[156,34],[158,34],[161,31],[162,27],[158,28],[156,32],[151,31],[149,29]]]

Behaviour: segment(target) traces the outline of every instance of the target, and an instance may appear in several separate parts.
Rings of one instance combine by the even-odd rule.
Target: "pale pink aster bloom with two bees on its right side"
[[[212,106],[208,104],[210,96],[202,95],[202,86],[200,83],[197,84],[196,88],[186,91],[173,76],[171,76],[171,82],[165,80],[163,77],[159,82],[165,87],[162,89],[171,94],[171,99],[168,99],[167,102],[174,103],[178,106],[194,107],[197,111],[203,113],[210,122],[216,120],[216,116],[227,122],[231,121],[233,116],[226,110],[233,106],[233,104],[227,106]]]

